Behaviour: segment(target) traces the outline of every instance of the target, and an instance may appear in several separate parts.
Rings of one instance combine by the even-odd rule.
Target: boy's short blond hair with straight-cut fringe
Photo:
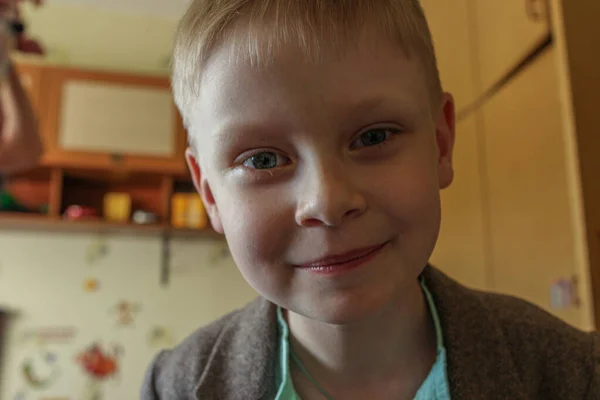
[[[365,23],[376,23],[408,56],[420,58],[432,101],[441,99],[437,61],[419,0],[191,0],[179,23],[172,61],[175,102],[188,129],[199,97],[201,68],[223,40],[233,56],[265,64],[277,49],[298,45],[318,58],[320,43],[342,49]],[[232,60],[233,61],[233,60]]]

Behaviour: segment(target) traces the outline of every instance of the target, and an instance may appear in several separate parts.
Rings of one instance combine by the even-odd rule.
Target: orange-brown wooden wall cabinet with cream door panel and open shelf
[[[167,77],[26,63],[17,70],[46,148],[38,168],[5,179],[0,228],[214,235],[171,225],[173,196],[195,189]],[[105,203],[115,196],[123,200],[117,220]]]

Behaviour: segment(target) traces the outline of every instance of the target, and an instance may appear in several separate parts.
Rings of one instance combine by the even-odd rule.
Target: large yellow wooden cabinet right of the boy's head
[[[461,118],[432,263],[600,327],[600,2],[422,4]]]

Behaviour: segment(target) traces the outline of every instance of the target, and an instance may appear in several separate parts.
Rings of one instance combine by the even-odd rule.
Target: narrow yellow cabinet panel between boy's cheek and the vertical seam
[[[431,261],[464,285],[487,289],[479,133],[474,116],[456,127],[455,177],[442,191],[442,228]]]

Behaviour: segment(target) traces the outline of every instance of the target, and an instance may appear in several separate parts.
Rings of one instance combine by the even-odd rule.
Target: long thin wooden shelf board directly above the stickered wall
[[[2,213],[0,212],[0,230],[53,231],[65,233],[111,233],[135,234],[143,236],[169,236],[177,238],[223,239],[212,229],[178,229],[166,224],[138,225],[119,224],[98,220],[69,221],[43,214]]]

